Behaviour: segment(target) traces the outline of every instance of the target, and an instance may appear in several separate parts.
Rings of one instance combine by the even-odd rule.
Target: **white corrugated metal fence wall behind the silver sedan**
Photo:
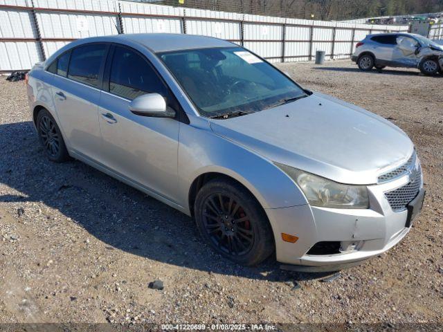
[[[270,62],[310,60],[316,50],[325,50],[327,59],[346,58],[369,33],[407,30],[120,0],[34,0],[34,6],[30,0],[0,0],[0,71],[30,69],[74,39],[121,30],[227,39]]]

